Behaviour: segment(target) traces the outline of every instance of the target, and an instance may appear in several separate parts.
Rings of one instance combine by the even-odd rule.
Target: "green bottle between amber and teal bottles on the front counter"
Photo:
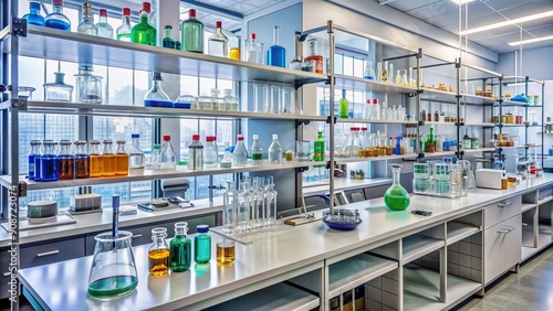
[[[188,223],[175,224],[175,237],[169,243],[170,269],[174,272],[182,272],[190,269],[192,264],[192,242],[187,236]]]

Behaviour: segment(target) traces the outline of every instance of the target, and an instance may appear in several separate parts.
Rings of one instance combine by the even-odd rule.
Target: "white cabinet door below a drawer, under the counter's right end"
[[[519,214],[484,230],[484,285],[520,262],[521,228]]]

